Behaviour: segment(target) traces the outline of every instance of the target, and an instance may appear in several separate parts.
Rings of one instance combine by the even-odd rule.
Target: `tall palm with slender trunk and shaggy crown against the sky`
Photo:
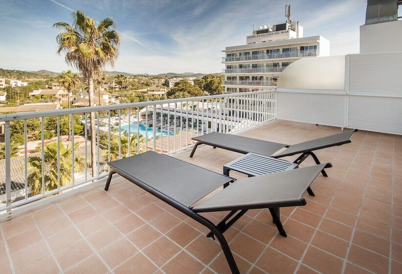
[[[106,17],[98,25],[83,11],[73,13],[73,25],[58,22],[53,26],[63,31],[56,37],[57,53],[65,52],[68,65],[81,71],[88,79],[89,105],[95,105],[94,79],[106,65],[113,66],[119,55],[120,35],[114,30],[116,23]],[[90,113],[92,176],[96,176],[95,113]]]

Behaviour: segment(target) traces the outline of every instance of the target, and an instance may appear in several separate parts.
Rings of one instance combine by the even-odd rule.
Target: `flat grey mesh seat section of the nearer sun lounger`
[[[176,202],[191,206],[219,186],[232,179],[176,158],[147,151],[135,156],[110,162],[114,168],[134,175]]]

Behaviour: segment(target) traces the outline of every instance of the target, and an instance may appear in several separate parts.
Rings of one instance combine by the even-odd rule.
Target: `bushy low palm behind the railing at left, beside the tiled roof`
[[[76,151],[79,143],[74,144]],[[45,190],[50,191],[57,188],[57,176],[60,176],[60,187],[70,184],[72,181],[72,153],[71,143],[67,146],[60,143],[60,173],[57,172],[57,142],[46,144],[44,147],[44,170]],[[74,172],[85,169],[85,158],[82,155],[74,155]],[[33,156],[28,158],[28,185],[31,187],[32,195],[42,193],[42,157]]]

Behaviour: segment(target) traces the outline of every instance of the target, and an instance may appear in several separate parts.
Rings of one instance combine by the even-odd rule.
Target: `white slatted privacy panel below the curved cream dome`
[[[345,95],[302,92],[277,93],[277,118],[345,127]],[[328,93],[326,93],[328,92]]]

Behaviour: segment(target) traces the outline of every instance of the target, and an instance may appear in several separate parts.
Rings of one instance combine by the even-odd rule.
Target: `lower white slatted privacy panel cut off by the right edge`
[[[349,127],[402,135],[402,98],[350,95]]]

